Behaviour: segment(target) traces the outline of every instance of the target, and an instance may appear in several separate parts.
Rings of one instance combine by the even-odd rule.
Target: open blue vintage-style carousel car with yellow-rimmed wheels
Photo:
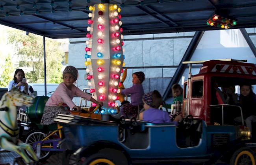
[[[111,122],[79,116],[70,116],[69,120],[61,119],[61,115],[57,118],[63,121],[66,137],[60,147],[67,153],[74,152],[77,164],[173,161],[212,164],[222,159],[235,165],[255,165],[252,151],[255,146],[245,140],[249,134],[241,126],[207,126],[193,117],[183,119],[178,126],[135,119]]]

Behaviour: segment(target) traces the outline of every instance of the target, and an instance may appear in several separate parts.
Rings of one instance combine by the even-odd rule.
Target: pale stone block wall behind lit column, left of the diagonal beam
[[[194,34],[195,32],[125,35],[124,62],[128,72],[124,86],[132,86],[132,73],[143,71],[146,76],[143,82],[145,93],[158,90],[163,95]],[[80,89],[88,87],[84,79],[86,40],[69,39],[69,65],[79,70],[77,85]]]

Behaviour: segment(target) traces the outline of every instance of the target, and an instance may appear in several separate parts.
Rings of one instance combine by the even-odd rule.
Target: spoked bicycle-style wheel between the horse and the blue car
[[[25,143],[28,145],[33,146],[33,143],[35,143],[36,141],[41,141],[45,138],[45,133],[43,132],[32,132],[28,135],[28,137],[26,138]],[[49,140],[49,139],[47,139]],[[51,144],[47,144],[48,146],[51,146]],[[32,148],[33,151],[36,154],[36,149]],[[26,150],[26,153],[28,154],[28,156],[32,159],[31,154]],[[40,153],[40,157],[39,160],[43,161],[48,159],[51,156],[50,151],[41,151]]]

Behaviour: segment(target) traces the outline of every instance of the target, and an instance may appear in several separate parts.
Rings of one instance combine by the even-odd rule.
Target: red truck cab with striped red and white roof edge
[[[239,85],[256,84],[256,67],[247,60],[187,61],[189,77],[184,82],[183,115],[202,119],[207,125],[243,125],[243,113],[238,102],[230,102],[221,90]],[[191,74],[192,64],[202,64],[196,75]],[[236,117],[242,123],[235,123]]]

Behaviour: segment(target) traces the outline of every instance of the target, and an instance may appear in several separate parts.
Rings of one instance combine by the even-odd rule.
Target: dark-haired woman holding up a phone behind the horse
[[[32,86],[27,84],[25,73],[22,69],[15,70],[13,80],[9,82],[8,91],[10,91],[13,87],[19,88],[23,93],[33,96],[34,90]]]

